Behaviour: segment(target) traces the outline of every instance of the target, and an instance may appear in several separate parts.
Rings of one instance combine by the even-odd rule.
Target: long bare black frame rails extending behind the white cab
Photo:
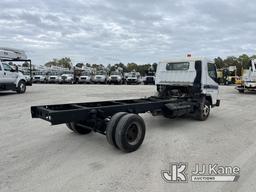
[[[180,100],[180,102],[184,100]],[[89,119],[105,119],[117,112],[145,113],[161,110],[165,104],[179,102],[178,98],[163,99],[149,97],[130,100],[70,103],[59,105],[32,106],[32,118],[41,118],[52,125],[81,122]]]

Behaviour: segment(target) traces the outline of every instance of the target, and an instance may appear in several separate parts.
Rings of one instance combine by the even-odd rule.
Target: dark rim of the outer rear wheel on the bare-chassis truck
[[[126,133],[127,142],[130,145],[136,145],[142,135],[141,127],[138,123],[133,123],[129,126]]]

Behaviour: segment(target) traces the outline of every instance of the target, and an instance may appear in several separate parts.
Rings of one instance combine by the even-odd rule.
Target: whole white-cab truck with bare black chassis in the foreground
[[[206,58],[160,62],[156,87],[157,96],[32,106],[31,114],[52,125],[66,124],[77,134],[100,133],[117,149],[132,152],[140,147],[146,131],[139,114],[150,112],[167,118],[192,115],[204,121],[210,109],[220,105],[216,67]]]

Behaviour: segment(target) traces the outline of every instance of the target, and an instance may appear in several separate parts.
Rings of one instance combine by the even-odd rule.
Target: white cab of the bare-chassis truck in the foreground
[[[165,60],[157,66],[156,85],[160,97],[196,99],[205,112],[220,105],[217,81],[216,66],[207,58]]]

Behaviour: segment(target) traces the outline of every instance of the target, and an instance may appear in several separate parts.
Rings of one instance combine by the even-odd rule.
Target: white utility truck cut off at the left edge
[[[18,70],[18,64],[27,62],[29,64],[29,76],[26,78]],[[17,93],[25,93],[26,86],[32,85],[31,60],[23,50],[0,48],[0,91],[12,90]]]

